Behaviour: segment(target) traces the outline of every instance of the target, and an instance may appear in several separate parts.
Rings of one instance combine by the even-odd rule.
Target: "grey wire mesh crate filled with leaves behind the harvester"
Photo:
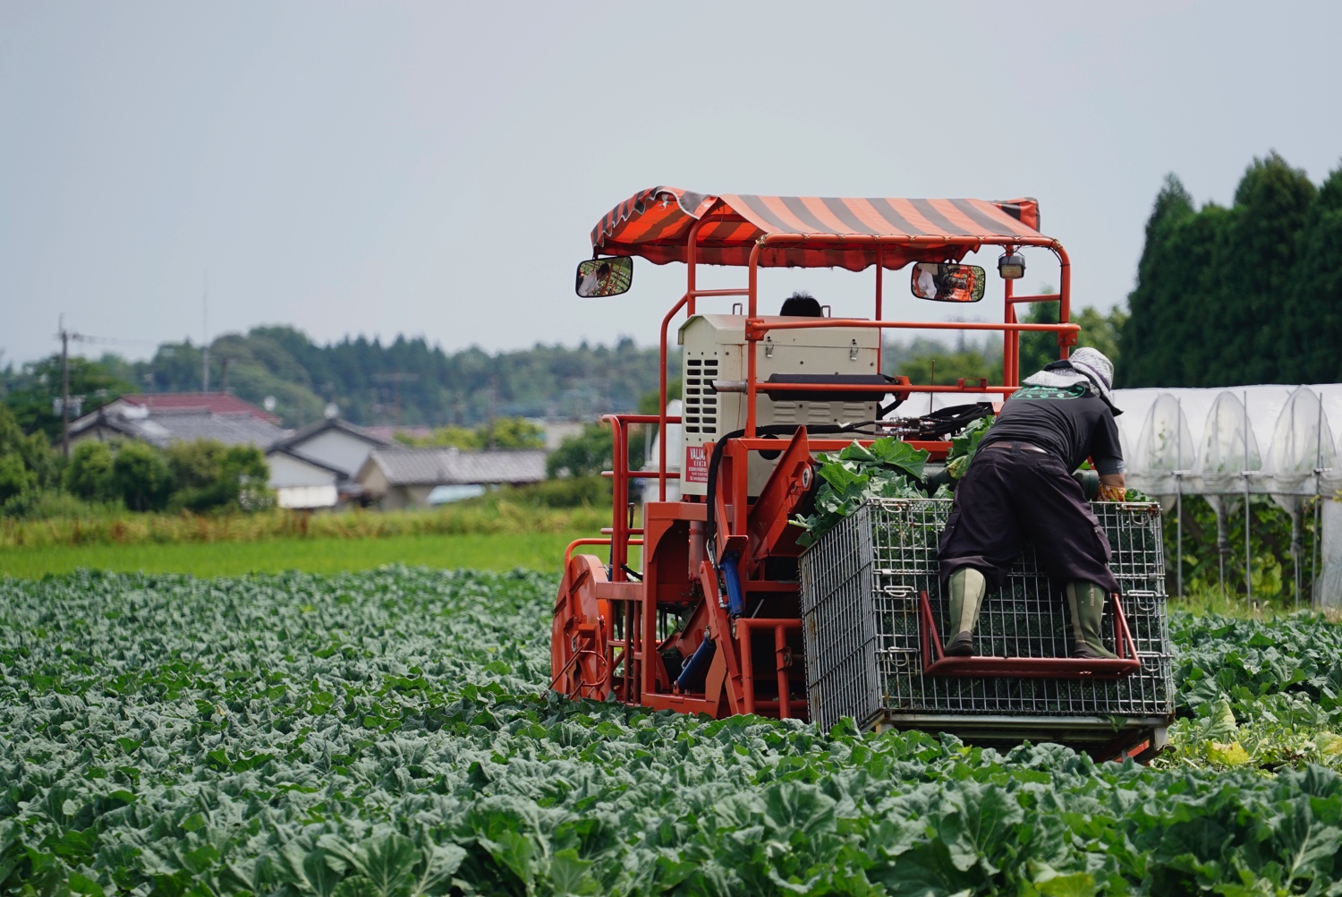
[[[872,500],[841,520],[801,557],[807,692],[811,718],[860,725],[918,716],[1146,718],[1173,712],[1159,506],[1096,504],[1114,549],[1123,612],[1141,670],[1119,678],[925,675],[919,592],[941,632],[937,544],[950,500]],[[1113,632],[1113,608],[1102,631]],[[1067,603],[1027,547],[998,592],[984,602],[974,634],[980,654],[1070,657]]]

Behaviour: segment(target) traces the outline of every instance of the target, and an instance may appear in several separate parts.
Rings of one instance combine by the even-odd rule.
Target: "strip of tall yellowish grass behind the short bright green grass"
[[[596,532],[608,526],[609,521],[608,506],[546,508],[509,500],[397,512],[356,509],[306,513],[276,509],[219,516],[107,512],[52,520],[3,520],[0,548],[573,533]]]

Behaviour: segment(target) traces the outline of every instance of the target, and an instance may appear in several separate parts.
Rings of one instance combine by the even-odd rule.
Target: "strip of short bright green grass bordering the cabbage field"
[[[36,579],[79,568],[117,572],[236,576],[298,569],[338,573],[382,564],[558,572],[565,547],[596,533],[388,536],[382,538],[275,538],[239,542],[140,542],[0,549],[0,576]],[[603,549],[585,549],[601,553]]]

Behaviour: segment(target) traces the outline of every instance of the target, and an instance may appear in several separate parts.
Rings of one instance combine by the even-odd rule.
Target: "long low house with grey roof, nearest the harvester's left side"
[[[354,479],[385,510],[427,508],[480,494],[487,486],[539,482],[545,454],[544,448],[393,446],[372,451]]]

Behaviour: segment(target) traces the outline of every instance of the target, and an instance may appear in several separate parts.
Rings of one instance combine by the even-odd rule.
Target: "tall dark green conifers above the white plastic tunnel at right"
[[[1338,383],[1342,168],[1315,187],[1271,153],[1201,208],[1170,175],[1127,301],[1125,387]]]

